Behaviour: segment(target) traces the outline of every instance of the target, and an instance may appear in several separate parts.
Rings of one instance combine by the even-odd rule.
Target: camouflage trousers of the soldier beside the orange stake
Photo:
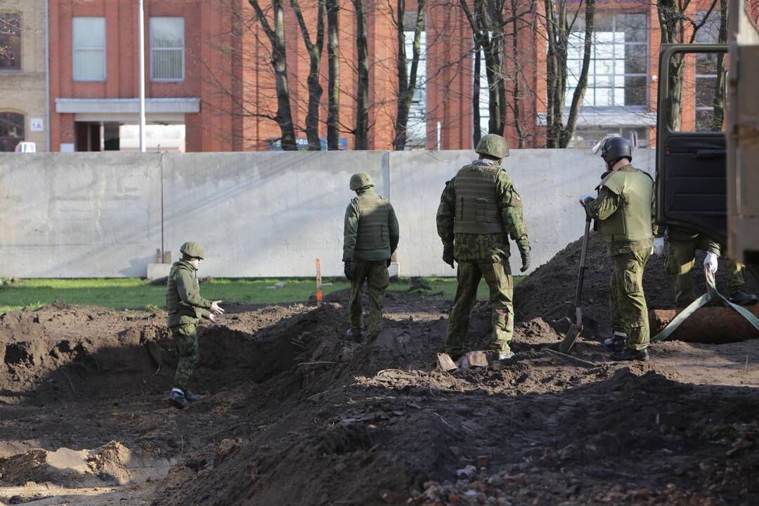
[[[364,329],[364,281],[369,292],[369,325],[367,333],[370,339],[376,338],[382,330],[382,306],[385,290],[390,284],[385,260],[370,262],[369,260],[353,259],[351,262],[351,302],[348,313],[351,315],[351,332],[353,335],[363,335]]]

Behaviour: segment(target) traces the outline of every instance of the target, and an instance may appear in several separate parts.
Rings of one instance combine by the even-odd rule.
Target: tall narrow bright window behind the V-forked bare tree
[[[417,11],[408,11],[403,17],[403,36],[406,46],[406,63],[411,71],[414,56],[414,30]],[[420,33],[419,64],[417,66],[417,87],[411,99],[406,127],[406,149],[427,149],[427,30]]]

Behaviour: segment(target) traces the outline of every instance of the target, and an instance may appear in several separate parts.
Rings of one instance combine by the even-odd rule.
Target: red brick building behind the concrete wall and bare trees
[[[269,6],[264,0],[260,3]],[[300,3],[315,39],[316,2]],[[395,13],[387,2],[366,3],[370,148],[392,149],[398,88]],[[294,11],[289,2],[284,4],[291,109],[298,140],[304,142],[309,58]],[[49,37],[55,41],[50,46],[52,150],[132,149],[126,134],[134,133],[134,127],[124,125],[137,123],[137,5],[137,0],[50,0]],[[339,14],[340,137],[348,149],[353,146],[357,93],[352,5],[351,0],[341,0]],[[517,11],[529,5],[519,0]],[[697,16],[699,9],[709,5],[707,0],[693,2],[691,14]],[[516,44],[512,45],[509,27],[504,39],[505,47],[516,55],[505,58],[510,102],[504,135],[518,144],[514,126],[518,109],[524,147],[545,143],[546,42],[542,2],[535,6],[534,13],[518,21]],[[416,2],[408,0],[406,8],[412,13]],[[470,149],[478,126],[474,124],[471,27],[458,2],[429,0],[426,11],[420,89],[414,96],[409,147]],[[512,14],[506,12],[505,17]],[[406,24],[410,25],[408,20]],[[411,26],[407,29],[412,30]],[[713,42],[713,24],[703,31],[700,40]],[[659,46],[653,2],[597,2],[592,71],[575,144],[633,131],[641,144],[653,143]],[[276,93],[269,41],[247,0],[145,0],[145,49],[147,121],[184,127],[184,143],[154,149],[277,149],[280,130],[273,120]],[[569,57],[573,68],[578,64],[578,53],[574,54],[574,59]],[[321,66],[320,137],[326,137],[326,44]],[[521,90],[514,99],[517,67]],[[698,83],[705,86],[712,77],[697,75],[691,61],[686,78],[693,83],[683,110],[683,127],[689,128],[694,127],[698,110],[706,108],[694,101],[695,88]],[[480,78],[480,83],[479,127],[487,130],[487,81]]]

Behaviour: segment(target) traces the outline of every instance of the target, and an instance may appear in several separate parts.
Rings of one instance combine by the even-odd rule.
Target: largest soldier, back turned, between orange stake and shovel
[[[453,360],[465,353],[472,304],[480,279],[485,278],[493,309],[492,347],[499,360],[508,360],[514,356],[509,347],[514,327],[509,237],[521,253],[521,272],[530,267],[530,242],[521,198],[501,167],[501,160],[509,156],[509,144],[499,135],[487,134],[474,151],[480,158],[446,183],[437,209],[442,260],[451,267],[458,262],[446,352]]]

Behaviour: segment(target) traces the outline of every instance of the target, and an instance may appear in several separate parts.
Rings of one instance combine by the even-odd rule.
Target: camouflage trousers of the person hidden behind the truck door
[[[696,240],[667,240],[665,268],[675,284],[675,305],[687,307],[696,300],[693,286],[693,266],[696,250],[700,249]],[[746,284],[745,266],[731,259],[725,259],[727,287],[730,291]]]

